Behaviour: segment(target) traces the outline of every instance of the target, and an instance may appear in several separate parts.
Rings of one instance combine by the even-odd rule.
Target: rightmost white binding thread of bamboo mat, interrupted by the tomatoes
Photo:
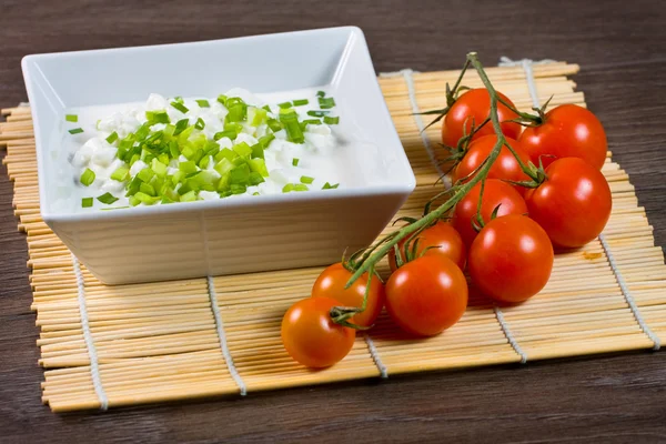
[[[538,100],[538,93],[536,92],[536,81],[534,78],[534,71],[532,70],[532,65],[533,64],[553,63],[553,62],[554,62],[554,60],[547,60],[547,59],[535,62],[529,59],[514,61],[507,57],[500,58],[501,67],[516,67],[516,65],[523,67],[523,70],[525,71],[525,79],[527,80],[527,88],[529,89],[529,95],[532,97],[532,103],[535,108],[541,107],[541,102]],[[602,243],[604,253],[606,253],[606,258],[608,259],[608,264],[610,265],[610,270],[613,271],[613,274],[615,275],[615,280],[617,281],[617,284],[619,285],[619,290],[622,291],[622,294],[623,294],[625,301],[627,302],[629,310],[632,310],[632,314],[634,315],[634,319],[638,323],[638,326],[640,327],[643,333],[645,333],[647,335],[647,337],[649,337],[649,340],[655,344],[653,346],[653,349],[659,350],[662,347],[662,341],[645,323],[645,320],[643,319],[643,315],[640,314],[640,310],[638,309],[638,305],[636,305],[636,301],[634,300],[634,296],[632,296],[632,292],[629,291],[629,287],[627,286],[626,282],[619,271],[619,268],[617,266],[617,263],[615,262],[615,258],[613,256],[613,253],[610,252],[610,245],[608,245],[608,242],[606,242],[606,238],[604,236],[604,233],[599,234],[599,242]]]

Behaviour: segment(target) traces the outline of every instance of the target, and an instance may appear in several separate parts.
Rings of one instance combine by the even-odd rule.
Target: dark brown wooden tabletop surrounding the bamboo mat
[[[467,51],[577,62],[575,77],[666,242],[666,13],[659,1],[0,1],[0,107],[23,56],[356,24],[377,71]],[[26,242],[0,174],[0,442],[664,442],[666,353],[56,415],[40,403]]]

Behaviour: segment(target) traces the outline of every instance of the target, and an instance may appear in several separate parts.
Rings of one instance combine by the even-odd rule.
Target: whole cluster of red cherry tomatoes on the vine
[[[488,297],[525,301],[547,283],[554,251],[598,236],[610,215],[612,196],[601,172],[607,143],[597,118],[573,104],[525,118],[498,95],[497,117],[511,149],[502,147],[485,178],[461,196],[446,220],[396,242],[385,284],[373,272],[347,287],[353,262],[325,269],[312,296],[284,315],[282,341],[293,359],[312,367],[336,363],[352,349],[356,329],[371,327],[384,306],[407,333],[441,333],[467,306],[465,269]],[[458,150],[454,183],[480,174],[494,150],[498,135],[492,125],[473,128],[490,113],[486,89],[468,90],[447,110],[442,141]],[[528,124],[523,129],[521,123]],[[364,310],[340,322],[334,314],[341,306]]]

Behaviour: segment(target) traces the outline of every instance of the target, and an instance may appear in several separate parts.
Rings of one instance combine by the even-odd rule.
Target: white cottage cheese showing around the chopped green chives
[[[224,95],[228,98],[241,98],[249,107],[255,107],[256,109],[268,105],[270,112],[268,112],[266,119],[272,118],[276,120],[280,119],[278,103],[307,99],[309,104],[293,107],[293,110],[299,115],[299,121],[302,122],[304,120],[317,119],[317,117],[307,114],[307,111],[320,110],[316,92],[317,89],[307,89],[255,95],[243,89],[232,89]],[[303,129],[303,143],[290,141],[285,130],[275,130],[273,132],[266,121],[258,125],[252,125],[249,121],[241,122],[241,127],[239,127],[241,128],[240,132],[234,140],[228,137],[216,138],[216,134],[225,131],[224,122],[230,112],[224,104],[220,103],[215,98],[205,98],[208,107],[205,104],[200,105],[198,100],[202,100],[201,98],[185,98],[180,100],[186,110],[179,110],[179,107],[173,107],[173,98],[165,98],[155,93],[150,94],[144,103],[85,107],[68,110],[68,114],[75,114],[78,117],[78,122],[67,122],[65,129],[81,128],[83,130],[82,133],[67,134],[65,142],[69,147],[69,162],[73,167],[73,182],[75,183],[74,192],[70,193],[68,198],[69,200],[77,201],[74,208],[79,208],[80,211],[90,211],[90,208],[81,208],[81,199],[97,198],[104,193],[110,193],[118,201],[108,205],[94,199],[93,209],[138,204],[135,199],[132,202],[125,194],[128,193],[131,180],[143,170],[151,169],[151,158],[144,158],[144,154],[141,154],[140,159],[133,159],[131,162],[128,159],[123,161],[119,159],[119,142],[129,134],[137,133],[148,122],[147,113],[149,115],[152,115],[152,113],[165,113],[169,117],[168,123],[152,123],[154,120],[151,120],[151,134],[164,131],[168,124],[173,127],[176,122],[188,119],[189,125],[194,125],[195,122],[203,123],[203,128],[198,128],[192,132],[190,138],[201,138],[201,134],[203,134],[211,143],[213,141],[216,142],[220,150],[229,149],[233,151],[239,144],[253,147],[260,143],[262,137],[274,135],[274,139],[268,143],[263,151],[265,170],[268,171],[268,175],[264,174],[263,176],[263,182],[255,185],[248,184],[244,192],[239,192],[236,189],[235,193],[231,195],[224,195],[219,190],[195,190],[195,198],[193,200],[238,199],[256,194],[279,194],[284,192],[287,184],[300,184],[300,190],[304,188],[307,190],[321,190],[326,183],[345,186],[359,182],[357,178],[354,179],[354,174],[357,174],[357,171],[354,168],[349,168],[351,159],[349,140],[337,132],[339,128],[336,124],[325,124],[321,118],[319,118],[322,121],[320,124],[306,124]],[[325,111],[330,113],[329,115],[339,117],[335,108]],[[344,119],[344,115],[340,117],[340,119]],[[162,182],[176,175],[182,163],[188,162],[188,160],[183,154],[180,154],[178,158],[171,157],[169,163],[164,165],[164,174],[167,176],[162,176]],[[216,168],[218,162],[213,155],[210,155],[208,164],[205,162],[198,162],[195,171],[201,171],[202,174],[206,174],[208,178],[220,183],[222,176],[219,172],[220,169]],[[119,181],[111,178],[119,169],[129,170],[129,175],[124,180]],[[91,170],[94,173],[94,181],[89,186],[84,186],[80,182],[81,174],[85,170]],[[223,174],[224,172],[222,171]],[[309,183],[310,178],[312,179],[311,183]],[[182,183],[176,183],[174,191],[178,191],[181,186]],[[160,196],[160,193],[157,192],[148,195]],[[154,202],[141,201],[139,204],[161,203],[162,200],[155,198]]]

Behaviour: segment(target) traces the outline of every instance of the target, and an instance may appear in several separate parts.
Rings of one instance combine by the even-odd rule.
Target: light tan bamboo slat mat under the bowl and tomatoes
[[[583,93],[567,79],[577,65],[535,64],[533,71],[541,102],[554,94],[553,104],[585,105]],[[487,73],[518,108],[531,108],[523,68],[490,68]],[[396,218],[420,215],[437,191],[432,151],[440,127],[421,134],[424,122],[412,112],[441,108],[445,82],[453,83],[456,77],[457,71],[404,71],[380,79],[417,178],[416,190]],[[463,84],[480,87],[481,81],[471,71]],[[27,232],[30,255],[39,363],[46,369],[43,402],[53,411],[658,349],[666,339],[662,249],[654,245],[652,226],[627,174],[609,154],[603,172],[614,201],[603,242],[595,240],[557,255],[551,281],[537,296],[500,307],[471,289],[463,319],[431,339],[405,337],[384,314],[369,334],[357,335],[341,363],[312,371],[287,356],[280,322],[293,302],[310,295],[320,268],[210,281],[102,285],[40,219],[29,108],[2,113],[7,117],[0,123],[0,144],[7,147],[3,163],[14,182],[14,212],[19,230]],[[381,271],[386,274],[385,263]]]

